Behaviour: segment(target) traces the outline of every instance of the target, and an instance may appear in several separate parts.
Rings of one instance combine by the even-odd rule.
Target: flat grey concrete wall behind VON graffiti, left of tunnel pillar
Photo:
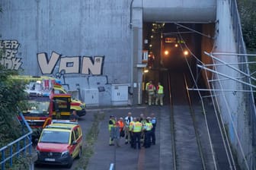
[[[71,89],[130,83],[130,0],[3,0],[1,64],[59,77]],[[90,78],[88,78],[88,76]]]

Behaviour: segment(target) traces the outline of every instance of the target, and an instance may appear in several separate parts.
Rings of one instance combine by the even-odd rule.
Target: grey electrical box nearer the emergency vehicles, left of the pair
[[[85,101],[86,107],[99,105],[98,89],[82,89],[82,98]]]

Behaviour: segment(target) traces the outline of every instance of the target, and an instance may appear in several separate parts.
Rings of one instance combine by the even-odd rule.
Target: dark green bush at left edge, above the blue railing
[[[15,115],[18,113],[19,103],[25,97],[24,85],[8,79],[11,74],[17,73],[0,65],[0,138],[2,139],[0,147],[21,135],[20,125]]]

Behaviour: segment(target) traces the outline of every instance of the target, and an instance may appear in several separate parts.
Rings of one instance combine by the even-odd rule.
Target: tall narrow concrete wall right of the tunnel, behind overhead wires
[[[235,34],[231,22],[231,14],[229,11],[228,1],[217,1],[216,17],[216,42],[213,52],[219,53],[236,53]],[[232,147],[237,153],[239,164],[243,169],[247,169],[245,162],[251,164],[249,155],[251,154],[251,137],[248,129],[248,112],[245,108],[245,92],[242,92],[242,83],[232,80],[238,79],[242,74],[238,71],[238,55],[215,55],[220,61],[216,61],[219,65],[216,71],[225,76],[217,75],[215,79],[219,79],[214,86],[217,90],[217,99],[222,118],[229,131],[229,139]],[[229,65],[233,63],[232,65]],[[239,79],[238,79],[239,80]],[[235,91],[237,90],[237,91]],[[245,160],[246,157],[246,160]]]

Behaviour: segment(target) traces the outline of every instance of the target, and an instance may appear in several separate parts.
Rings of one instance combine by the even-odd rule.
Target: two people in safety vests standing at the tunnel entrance
[[[160,105],[164,105],[164,87],[160,82],[158,82],[158,85],[155,87],[152,80],[150,80],[148,83],[146,83],[145,90],[149,105],[158,105],[158,101],[160,101]]]

